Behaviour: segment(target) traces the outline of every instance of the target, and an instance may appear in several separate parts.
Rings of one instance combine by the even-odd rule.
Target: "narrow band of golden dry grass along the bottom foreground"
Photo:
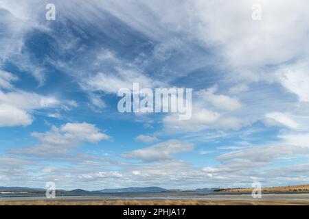
[[[116,201],[27,201],[0,202],[0,205],[309,205],[309,201],[280,200],[116,200]]]

